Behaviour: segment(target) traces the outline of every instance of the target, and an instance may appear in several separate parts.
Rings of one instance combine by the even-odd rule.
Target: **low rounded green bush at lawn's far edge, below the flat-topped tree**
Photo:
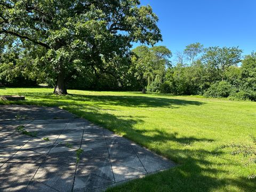
[[[221,81],[212,84],[204,93],[204,96],[212,98],[227,98],[232,92],[234,92],[232,85],[226,81]]]

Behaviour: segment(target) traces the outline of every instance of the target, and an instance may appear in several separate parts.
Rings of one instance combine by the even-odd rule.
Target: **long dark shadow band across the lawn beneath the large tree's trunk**
[[[43,100],[44,103],[41,105],[46,106],[61,106],[70,105],[67,100],[73,101],[74,105],[80,105],[81,102],[93,102],[94,106],[100,105],[111,105],[111,106],[126,106],[126,107],[165,107],[165,108],[179,108],[179,106],[189,105],[203,105],[201,101],[191,101],[185,99],[172,99],[172,98],[157,98],[157,97],[146,97],[146,96],[132,96],[132,95],[81,95],[72,94],[66,96],[57,96],[51,93],[34,92],[20,93],[27,97],[33,97],[33,99]],[[37,101],[29,101],[29,103],[40,104]],[[76,103],[77,102],[77,103]],[[17,103],[17,102],[16,102]],[[23,103],[23,102],[19,102]],[[78,104],[79,103],[79,104]]]

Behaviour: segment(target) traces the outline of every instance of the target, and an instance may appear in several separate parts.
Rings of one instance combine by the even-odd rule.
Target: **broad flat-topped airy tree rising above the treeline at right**
[[[220,76],[223,81],[225,78],[225,71],[230,66],[237,66],[241,61],[242,50],[238,47],[208,47],[205,49],[203,60],[209,66],[214,66],[220,71]]]

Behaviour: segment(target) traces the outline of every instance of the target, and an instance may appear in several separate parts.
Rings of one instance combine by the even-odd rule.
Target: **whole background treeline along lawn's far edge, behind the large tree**
[[[85,67],[71,75],[67,88],[140,90],[256,101],[256,53],[242,57],[238,47],[205,48],[200,43],[193,43],[173,55],[165,46],[138,46],[123,57],[116,55],[102,62],[104,68]],[[12,75],[6,74],[6,77]],[[44,78],[44,73],[39,74],[43,78],[34,78],[38,83],[54,86],[52,79]],[[22,85],[21,76],[10,79],[3,81],[2,78],[2,84],[17,86],[19,82],[18,85]]]

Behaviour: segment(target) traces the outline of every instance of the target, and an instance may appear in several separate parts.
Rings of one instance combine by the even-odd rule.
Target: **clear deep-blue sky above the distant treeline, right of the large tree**
[[[256,0],[141,0],[158,15],[163,42],[173,53],[199,42],[256,51]],[[134,47],[138,44],[134,44]]]

